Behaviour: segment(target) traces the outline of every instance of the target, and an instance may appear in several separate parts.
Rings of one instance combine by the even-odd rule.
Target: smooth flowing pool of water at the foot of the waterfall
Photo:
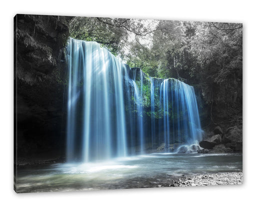
[[[241,154],[156,153],[110,161],[19,167],[18,192],[168,186],[182,175],[242,170]]]

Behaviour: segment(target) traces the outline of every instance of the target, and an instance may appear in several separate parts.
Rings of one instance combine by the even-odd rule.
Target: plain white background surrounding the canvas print
[[[253,206],[255,197],[255,6],[245,0],[1,1],[1,206]],[[13,191],[13,16],[16,13],[243,23],[243,184],[82,192]]]

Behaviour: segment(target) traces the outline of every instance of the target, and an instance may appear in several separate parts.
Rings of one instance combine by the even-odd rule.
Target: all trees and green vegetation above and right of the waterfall
[[[75,17],[69,31],[73,38],[97,41],[151,77],[193,85],[210,108],[211,122],[214,107],[226,117],[241,113],[240,23]],[[144,84],[144,106],[149,90]]]

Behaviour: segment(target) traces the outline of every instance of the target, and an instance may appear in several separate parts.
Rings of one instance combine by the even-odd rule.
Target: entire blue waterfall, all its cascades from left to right
[[[192,86],[146,76],[96,42],[67,45],[67,161],[143,154],[201,138]],[[150,146],[149,146],[150,145]]]

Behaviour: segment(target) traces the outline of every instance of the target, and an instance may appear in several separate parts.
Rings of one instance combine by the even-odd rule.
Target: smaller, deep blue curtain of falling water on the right
[[[160,86],[160,102],[167,149],[170,143],[193,144],[201,140],[201,126],[192,86],[174,78],[164,79]]]

